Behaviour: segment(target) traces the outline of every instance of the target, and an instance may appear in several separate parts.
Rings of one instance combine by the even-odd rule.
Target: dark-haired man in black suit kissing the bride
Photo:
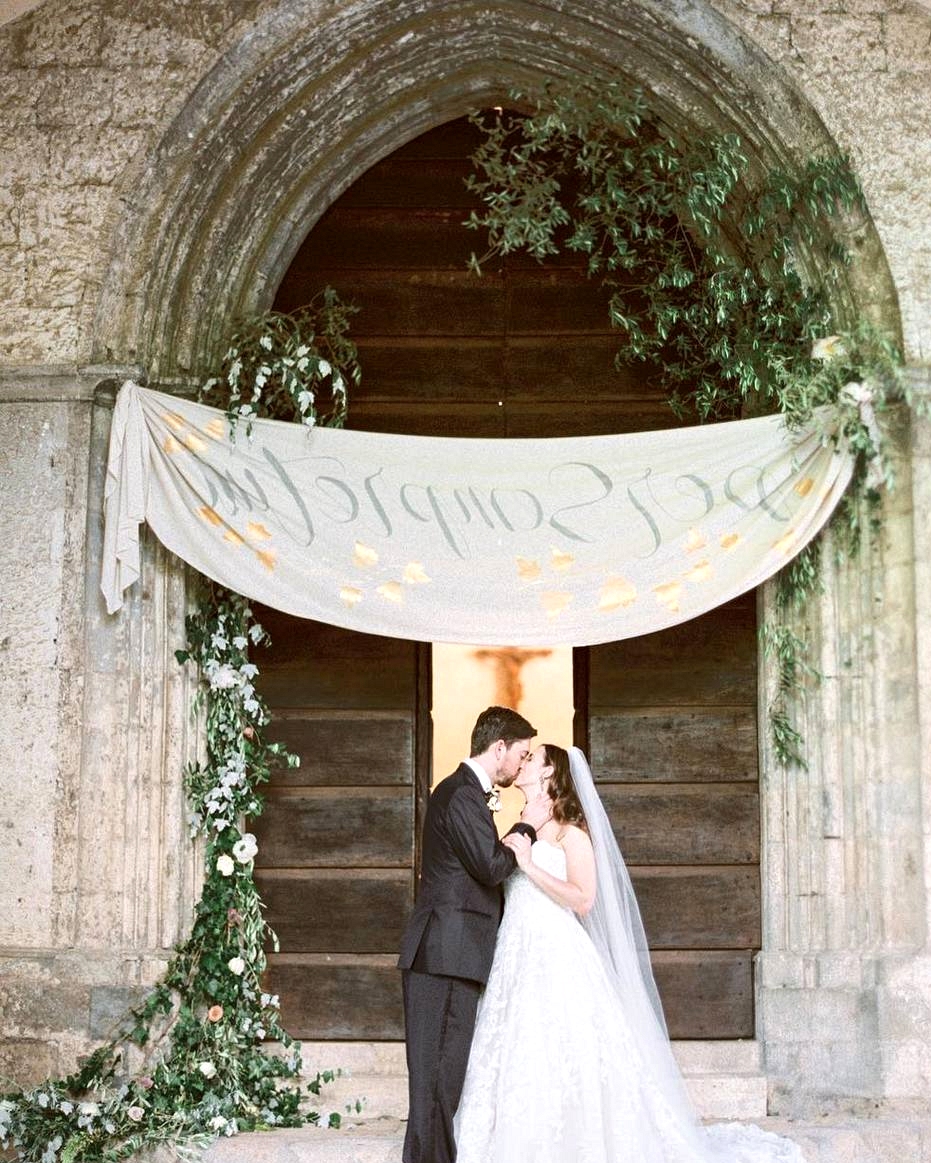
[[[421,886],[398,961],[410,1091],[403,1163],[456,1158],[452,1120],[492,968],[501,884],[516,864],[497,839],[489,797],[493,784],[514,783],[535,734],[516,711],[488,707],[472,730],[471,757],[430,795]],[[533,840],[532,823],[529,819],[511,830]]]

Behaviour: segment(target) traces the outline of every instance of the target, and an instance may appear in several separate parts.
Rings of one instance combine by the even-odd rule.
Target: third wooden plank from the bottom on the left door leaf
[[[410,868],[409,787],[272,789],[262,815],[264,868]]]

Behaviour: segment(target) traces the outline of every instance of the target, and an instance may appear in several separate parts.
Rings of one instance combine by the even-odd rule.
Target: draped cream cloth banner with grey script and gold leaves
[[[268,606],[422,641],[575,645],[661,630],[759,585],[852,472],[837,418],[624,436],[467,440],[258,420],[127,383],[113,416],[102,590],[138,526]]]

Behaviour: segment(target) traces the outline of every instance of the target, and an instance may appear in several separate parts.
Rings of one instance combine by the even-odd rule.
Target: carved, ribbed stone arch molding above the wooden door
[[[285,0],[194,90],[126,176],[93,356],[188,380],[230,320],[266,308],[327,207],[418,134],[547,78],[626,78],[678,131],[737,131],[757,165],[831,147],[778,67],[695,0]],[[842,304],[895,327],[871,221]],[[94,308],[92,308],[94,309]]]

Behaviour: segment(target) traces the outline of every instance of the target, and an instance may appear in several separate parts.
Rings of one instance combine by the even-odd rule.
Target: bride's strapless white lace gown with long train
[[[566,879],[560,847],[538,840],[531,855]],[[456,1116],[458,1163],[803,1163],[758,1127],[701,1127],[649,1025],[575,914],[517,870]]]

